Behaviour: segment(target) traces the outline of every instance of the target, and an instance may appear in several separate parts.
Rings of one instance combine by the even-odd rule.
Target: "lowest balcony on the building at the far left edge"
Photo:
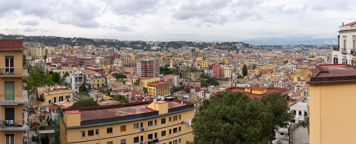
[[[16,114],[16,113],[15,113]],[[1,120],[0,130],[10,130],[10,131],[24,131],[29,130],[31,123],[28,121],[28,110],[27,108],[22,108],[22,121],[18,120]]]

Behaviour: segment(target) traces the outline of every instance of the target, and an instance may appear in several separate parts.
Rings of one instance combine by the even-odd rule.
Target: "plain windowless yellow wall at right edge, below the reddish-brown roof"
[[[310,143],[356,143],[356,83],[309,85]]]

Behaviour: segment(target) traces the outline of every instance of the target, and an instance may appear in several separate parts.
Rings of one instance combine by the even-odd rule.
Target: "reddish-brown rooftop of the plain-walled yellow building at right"
[[[356,82],[356,68],[346,64],[315,65],[309,67],[313,76],[308,84]]]

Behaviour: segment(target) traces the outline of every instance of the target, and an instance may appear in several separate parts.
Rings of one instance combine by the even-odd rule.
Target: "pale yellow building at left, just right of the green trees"
[[[63,85],[47,87],[43,91],[45,105],[73,100],[73,90]]]

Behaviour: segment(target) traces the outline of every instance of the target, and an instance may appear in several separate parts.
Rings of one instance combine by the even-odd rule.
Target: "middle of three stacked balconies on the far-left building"
[[[27,90],[22,90],[22,95],[0,94],[0,104],[15,104],[15,103],[29,103],[29,96]]]

